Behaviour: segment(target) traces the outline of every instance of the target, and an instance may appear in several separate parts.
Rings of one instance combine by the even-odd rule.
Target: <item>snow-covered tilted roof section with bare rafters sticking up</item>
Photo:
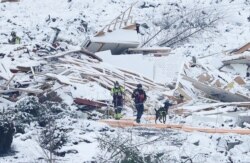
[[[139,48],[140,24],[133,21],[131,11],[137,2],[118,15],[108,25],[92,37],[87,37],[82,43],[82,48],[91,52],[110,50],[112,54],[142,53],[166,56],[171,49],[168,47]]]

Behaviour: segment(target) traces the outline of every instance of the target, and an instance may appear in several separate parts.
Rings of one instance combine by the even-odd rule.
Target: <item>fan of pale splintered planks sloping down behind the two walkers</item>
[[[82,53],[81,51],[78,51]],[[76,51],[74,51],[76,53]],[[47,57],[48,58],[48,57]],[[118,69],[111,65],[107,65],[100,60],[91,59],[86,56],[78,55],[74,58],[69,55],[58,55],[58,66],[61,66],[64,71],[60,74],[46,73],[45,76],[51,79],[56,79],[60,83],[72,84],[75,82],[95,81],[102,87],[110,90],[115,81],[124,83],[126,90],[132,93],[138,83],[141,83],[144,88],[165,90],[162,84],[134,72],[124,69]],[[78,78],[76,78],[78,76]]]

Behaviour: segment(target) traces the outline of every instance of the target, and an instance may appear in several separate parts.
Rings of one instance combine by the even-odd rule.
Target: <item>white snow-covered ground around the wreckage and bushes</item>
[[[30,57],[29,54],[22,54],[22,52],[17,55],[18,52],[14,53],[13,51],[19,45],[6,44],[11,31],[16,31],[17,35],[22,38],[21,45],[32,47],[35,44],[48,45],[51,35],[54,33],[51,27],[57,27],[61,30],[59,39],[66,42],[65,47],[68,50],[79,49],[86,37],[91,36],[108,24],[116,15],[128,8],[132,2],[134,1],[20,0],[17,3],[0,3],[0,54],[8,55],[8,57],[0,58],[0,63],[5,65],[6,68],[38,64],[36,61],[39,58],[38,56]],[[178,7],[180,8],[178,9]],[[149,29],[144,29],[143,36],[138,36],[140,40],[147,39],[160,29],[159,24],[164,21],[166,13],[178,15],[182,7],[194,10],[219,11],[218,13],[223,15],[223,19],[218,22],[212,34],[209,32],[203,33],[189,40],[188,43],[175,47],[167,57],[154,58],[140,54],[112,56],[108,52],[97,53],[97,55],[108,66],[127,69],[156,82],[168,84],[178,80],[180,68],[184,61],[191,60],[191,56],[211,55],[197,60],[197,62],[219,68],[221,66],[220,60],[224,58],[222,51],[238,48],[250,41],[249,0],[140,0],[132,10],[133,19],[138,23],[146,23],[149,26]],[[152,45],[166,36],[164,33],[161,34],[156,40],[152,41]],[[13,56],[13,53],[16,56]],[[242,75],[245,74],[244,68],[236,66],[235,69],[241,71]],[[242,69],[244,69],[244,72],[242,72]],[[195,73],[198,72],[192,73],[195,76]],[[11,77],[8,76],[8,73],[4,75],[7,78]],[[22,77],[17,78],[20,81],[27,80]],[[4,85],[5,83],[0,81],[0,84]],[[58,87],[60,85],[57,83],[53,86],[54,89]],[[78,89],[76,90],[74,87]],[[58,89],[57,93],[63,99],[63,103],[69,105],[74,111],[77,108],[73,104],[73,98],[75,97],[93,100],[111,100],[112,98],[109,91],[96,82],[65,86]],[[152,93],[150,102],[157,100],[154,95]],[[0,110],[15,105],[15,103],[5,101],[1,96],[0,101]],[[191,105],[194,105],[194,103]],[[201,106],[186,106],[186,108],[188,107],[193,111],[201,109]],[[187,118],[174,116],[173,119],[167,119],[167,122],[204,127],[222,127],[221,124],[224,124],[224,127],[232,128],[231,125],[235,127],[235,115],[228,114],[223,117],[212,115],[230,109],[233,110],[234,108],[216,107],[213,111],[195,113]],[[244,108],[240,111],[249,114],[249,111]],[[186,133],[179,130],[163,131],[145,128],[113,129],[106,124],[86,120],[88,115],[85,113],[76,111],[76,114],[78,117],[64,118],[58,122],[61,126],[70,128],[69,132],[66,132],[68,142],[58,151],[66,152],[66,154],[63,157],[56,157],[58,162],[101,162],[100,158],[107,157],[106,159],[108,159],[109,155],[103,153],[107,152],[107,149],[100,148],[100,142],[97,141],[97,138],[101,135],[110,135],[115,140],[118,134],[125,136],[125,138],[121,138],[123,141],[126,136],[131,136],[132,138],[128,143],[132,145],[160,137],[161,139],[154,143],[138,146],[144,156],[163,154],[163,160],[159,162],[240,163],[250,160],[248,135]],[[203,117],[204,114],[211,115]],[[228,123],[224,123],[225,121]],[[246,124],[246,126],[248,125]],[[16,134],[12,143],[12,152],[0,157],[0,162],[42,162],[44,160],[42,158],[46,156],[38,144],[37,137],[40,130],[34,123],[26,128],[24,134]],[[102,162],[105,161],[102,160]]]

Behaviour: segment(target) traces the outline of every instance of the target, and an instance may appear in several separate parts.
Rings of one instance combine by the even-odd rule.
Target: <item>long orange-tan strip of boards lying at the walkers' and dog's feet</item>
[[[147,127],[147,128],[158,128],[158,129],[178,129],[185,132],[205,132],[205,133],[220,133],[220,134],[240,134],[240,135],[250,135],[250,129],[225,129],[225,128],[201,128],[192,127],[181,124],[138,124],[133,120],[100,120],[99,122],[106,123],[112,127]]]

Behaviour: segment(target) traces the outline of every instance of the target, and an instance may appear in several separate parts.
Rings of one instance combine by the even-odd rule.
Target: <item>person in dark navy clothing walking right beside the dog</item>
[[[144,111],[144,102],[147,100],[147,95],[142,89],[141,84],[138,84],[137,88],[133,91],[132,98],[134,99],[135,108],[137,110],[136,122],[140,123],[140,119]]]

